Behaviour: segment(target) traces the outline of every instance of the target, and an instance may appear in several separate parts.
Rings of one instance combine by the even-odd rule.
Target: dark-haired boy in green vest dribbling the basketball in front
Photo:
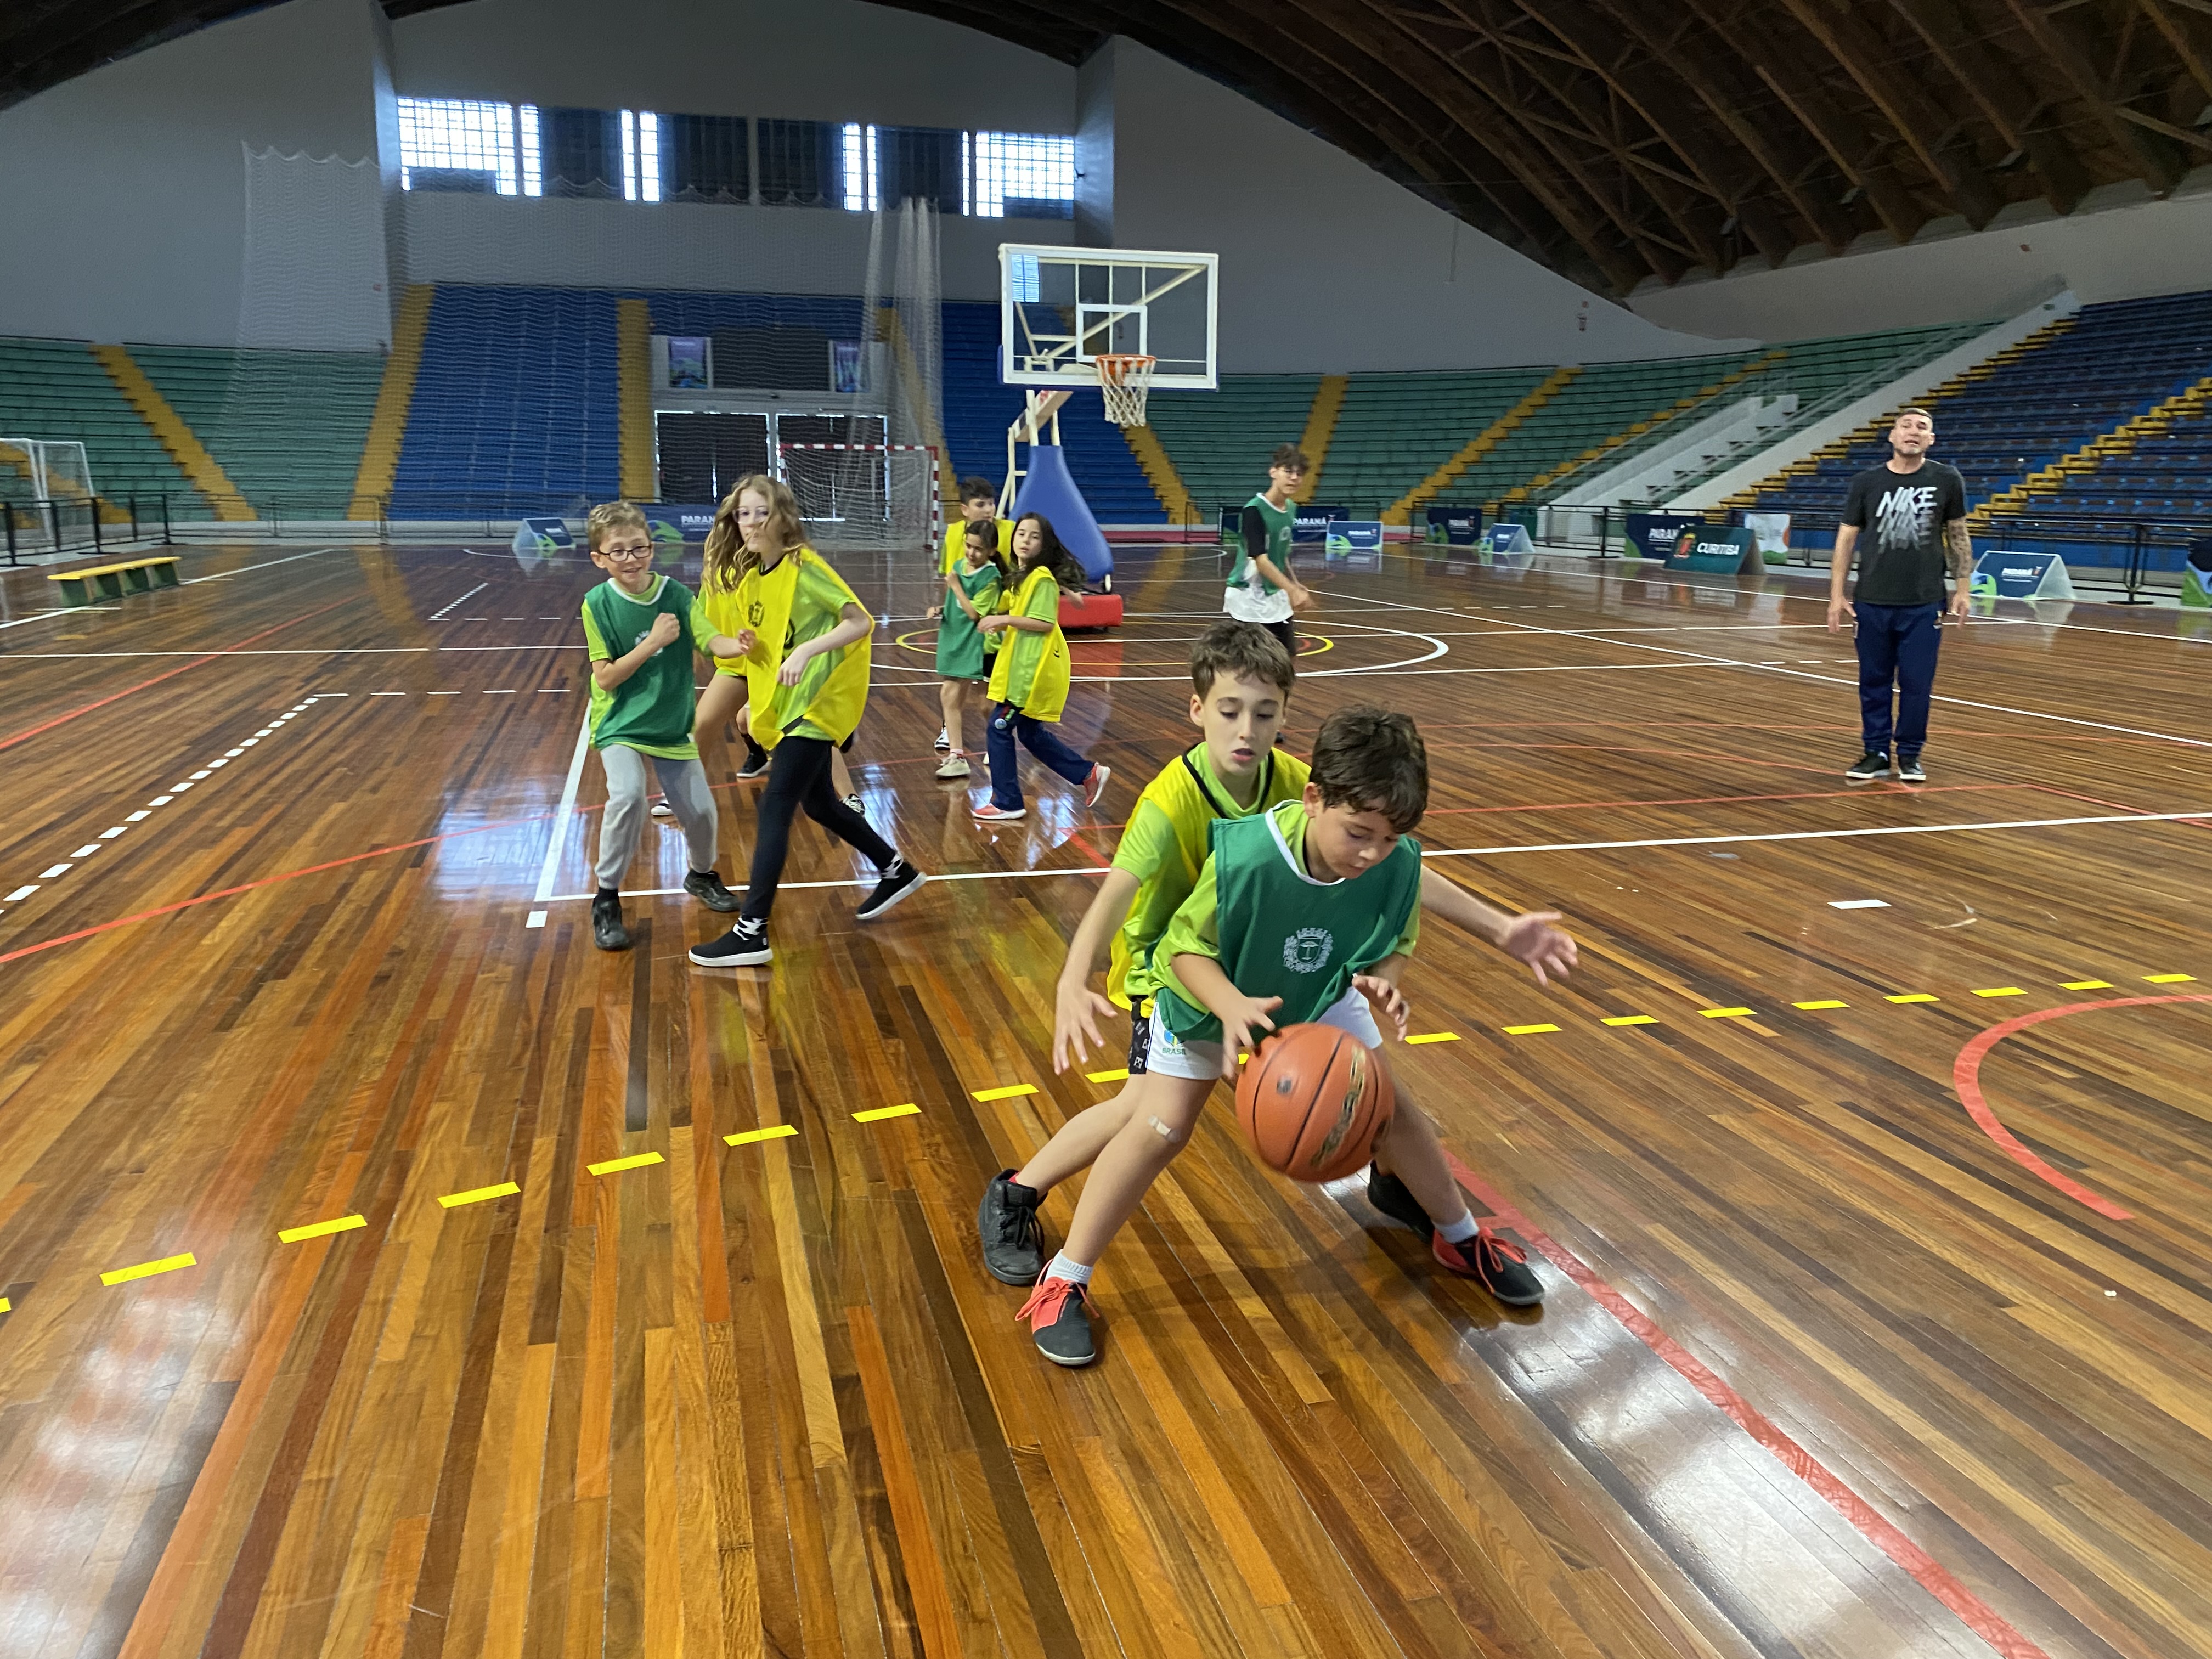
[[[1402,714],[1352,708],[1323,723],[1301,799],[1212,821],[1212,856],[1148,953],[1157,993],[1146,1022],[1144,1079],[1133,1079],[1117,1102],[1093,1106],[1062,1126],[1020,1172],[1048,1186],[1091,1164],[1068,1241],[1022,1307],[1037,1349],[1053,1363],[1088,1365],[1095,1358],[1086,1292],[1091,1272],[1186,1144],[1212,1082],[1234,1075],[1239,1044],[1250,1046],[1256,1033],[1276,1024],[1318,1020],[1380,1046],[1371,1009],[1405,1033],[1405,998],[1396,980],[1420,931],[1422,869],[1418,847],[1402,836],[1420,821],[1427,787],[1427,757],[1413,723]],[[1358,887],[1352,887],[1354,880]],[[1528,916],[1506,925],[1511,951],[1537,967],[1540,978],[1546,967],[1559,973],[1573,964],[1573,945],[1548,920]],[[1084,931],[1093,931],[1091,918]],[[1062,1053],[1055,1044],[1055,1062]],[[1135,1064],[1137,1044],[1133,1071]],[[1062,1148],[1062,1141],[1068,1146]],[[1073,1161],[1071,1152],[1082,1161]],[[1383,1197],[1391,1188],[1400,1197],[1383,1199],[1378,1208],[1429,1230],[1440,1265],[1480,1279],[1504,1303],[1542,1301],[1542,1283],[1522,1252],[1467,1210],[1436,1130],[1402,1091],[1400,1110],[1376,1144],[1369,1194]],[[1024,1219],[1035,1232],[1040,1197],[1011,1172],[991,1183],[978,1214],[987,1263],[993,1248],[1009,1261],[1024,1254],[1009,1245],[1029,1243],[1035,1250],[1033,1239],[1006,1234]],[[1431,1223],[1431,1217],[1449,1219]],[[1006,1279],[1002,1265],[991,1265],[991,1272]]]

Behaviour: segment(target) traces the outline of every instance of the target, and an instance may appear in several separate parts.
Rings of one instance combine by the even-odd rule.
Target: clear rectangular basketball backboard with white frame
[[[1006,385],[1097,385],[1102,352],[1159,358],[1152,387],[1214,389],[1219,254],[1000,243]]]

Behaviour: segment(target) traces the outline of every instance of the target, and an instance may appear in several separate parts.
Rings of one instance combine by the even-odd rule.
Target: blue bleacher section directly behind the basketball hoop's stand
[[[1159,394],[1155,394],[1157,400]],[[1006,476],[1006,427],[1022,414],[1022,389],[998,378],[998,305],[945,301],[945,445],[958,476]],[[1159,524],[1166,513],[1121,429],[1106,420],[1095,389],[1060,409],[1068,476],[1099,524]]]

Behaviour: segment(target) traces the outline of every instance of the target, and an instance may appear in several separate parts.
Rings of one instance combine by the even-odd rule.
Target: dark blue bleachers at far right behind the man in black
[[[1966,500],[1980,504],[2208,374],[2212,374],[2212,292],[2170,294],[2084,305],[2070,327],[2057,327],[2033,345],[1969,369],[1920,403],[1936,418],[1936,460],[1958,467],[1966,480]],[[1849,440],[1801,462],[1790,476],[1730,504],[1756,502],[1767,511],[1827,522],[1843,509],[1851,473],[1887,460],[1887,418],[1874,420]],[[2183,440],[2170,453],[2197,451]],[[2141,476],[2177,480],[2179,471],[2146,469]],[[2121,495],[2119,489],[2084,487],[2068,498],[2163,502],[2181,500],[2183,489],[2185,484],[2177,482],[2130,489]],[[2055,509],[2048,498],[2039,504]],[[2143,511],[2163,509],[2143,507]]]

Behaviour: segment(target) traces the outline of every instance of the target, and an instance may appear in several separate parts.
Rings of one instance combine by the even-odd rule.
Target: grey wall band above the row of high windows
[[[1068,64],[860,0],[471,0],[392,42],[407,97],[1075,131]]]

